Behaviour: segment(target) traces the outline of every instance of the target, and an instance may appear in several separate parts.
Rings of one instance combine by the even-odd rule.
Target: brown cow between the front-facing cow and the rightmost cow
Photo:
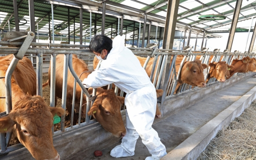
[[[237,72],[238,73],[249,72],[248,70],[249,62],[245,57],[242,60],[234,59],[231,65],[233,65],[234,68],[230,69],[230,77],[232,77]],[[230,77],[227,77],[227,79],[229,79]]]

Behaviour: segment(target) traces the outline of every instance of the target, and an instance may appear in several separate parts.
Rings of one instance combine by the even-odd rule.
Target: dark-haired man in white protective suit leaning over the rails
[[[116,158],[133,156],[136,141],[141,136],[143,144],[152,154],[146,160],[160,160],[166,155],[166,147],[152,128],[157,103],[156,91],[139,60],[124,46],[124,38],[121,36],[116,36],[112,41],[103,34],[96,35],[91,39],[90,51],[103,61],[99,70],[93,71],[83,80],[85,87],[97,88],[114,83],[127,93],[127,132],[121,145],[113,148],[110,155]]]

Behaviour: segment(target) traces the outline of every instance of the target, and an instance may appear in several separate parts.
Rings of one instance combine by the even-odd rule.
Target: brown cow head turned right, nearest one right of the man
[[[207,65],[201,64],[201,61],[198,59],[186,61],[181,70],[180,80],[192,86],[205,87],[206,83],[203,71],[206,67]]]

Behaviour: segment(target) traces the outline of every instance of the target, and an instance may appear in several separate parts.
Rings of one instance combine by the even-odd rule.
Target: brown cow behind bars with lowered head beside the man
[[[81,75],[80,79],[83,80],[87,78],[90,72],[88,71],[88,67],[82,59],[78,59],[77,55],[73,54],[72,58],[73,69],[77,73],[78,76]],[[63,64],[64,64],[64,55],[56,56],[56,85],[55,85],[55,96],[62,98],[62,85],[63,85]],[[83,73],[83,74],[82,74]],[[51,81],[51,65],[48,70],[48,81],[43,84],[43,87],[46,86]],[[73,88],[74,88],[74,77],[72,76],[70,70],[68,70],[68,80],[67,80],[67,97],[66,97],[66,108],[71,116],[72,113],[72,98],[73,98]],[[50,85],[50,83],[49,83]],[[77,83],[76,88],[76,96],[75,96],[75,109],[79,111],[80,107],[80,96],[81,96],[81,88]],[[90,94],[92,90],[89,90]],[[96,92],[96,101],[95,104],[92,106],[94,109],[96,106],[98,107],[98,111],[96,112],[96,119],[103,128],[107,131],[111,132],[115,136],[123,137],[126,134],[126,129],[122,122],[121,112],[120,112],[120,102],[124,103],[124,97],[115,96],[113,90],[103,90],[101,88],[97,89]],[[55,97],[55,103],[57,101],[57,97]],[[86,103],[86,96],[83,95],[83,104]],[[100,104],[100,105],[98,105]],[[110,114],[105,112],[108,109],[112,109]],[[91,114],[91,111],[89,114]],[[99,114],[100,113],[100,114]],[[86,115],[86,105],[82,107],[82,118],[85,118]],[[109,119],[111,117],[111,120]],[[103,121],[104,120],[104,121]],[[109,123],[111,121],[111,123]],[[77,124],[77,115],[74,112],[74,121],[73,125]],[[119,124],[119,125],[116,125]]]

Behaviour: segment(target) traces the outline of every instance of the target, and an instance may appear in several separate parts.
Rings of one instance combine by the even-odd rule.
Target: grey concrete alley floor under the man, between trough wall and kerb
[[[161,141],[166,146],[166,152],[170,152],[177,147],[182,141],[186,140],[191,134],[201,128],[205,123],[209,122],[221,111],[229,107],[233,102],[236,102],[241,96],[256,86],[255,78],[248,78],[247,80],[236,83],[234,86],[220,90],[216,94],[209,96],[196,103],[195,105],[180,111],[179,113],[169,116],[160,122],[153,125],[153,128],[158,132]],[[116,145],[109,146],[102,150],[101,157],[95,157],[93,153],[91,156],[83,160],[145,160],[148,153],[147,147],[138,139],[135,154],[132,157],[113,158],[110,151]]]

